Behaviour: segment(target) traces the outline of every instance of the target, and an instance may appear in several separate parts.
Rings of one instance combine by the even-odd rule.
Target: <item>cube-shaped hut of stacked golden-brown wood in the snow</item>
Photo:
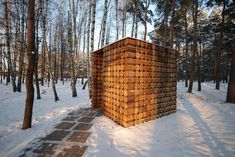
[[[124,127],[176,112],[176,51],[127,37],[93,52],[92,105]]]

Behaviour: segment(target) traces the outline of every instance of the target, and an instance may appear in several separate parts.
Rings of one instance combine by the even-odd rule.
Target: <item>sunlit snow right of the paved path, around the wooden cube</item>
[[[217,91],[203,83],[202,92],[186,91],[178,83],[175,114],[144,124],[123,128],[96,118],[84,156],[234,157],[235,104],[224,103],[226,86]]]

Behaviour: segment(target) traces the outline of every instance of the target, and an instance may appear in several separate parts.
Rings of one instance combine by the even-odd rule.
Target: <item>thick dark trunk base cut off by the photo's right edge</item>
[[[227,89],[226,102],[235,103],[235,48],[232,52],[232,62],[230,67],[230,76]]]

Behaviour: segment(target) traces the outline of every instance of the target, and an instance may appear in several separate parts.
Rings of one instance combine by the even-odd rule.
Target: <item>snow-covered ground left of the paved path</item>
[[[48,134],[70,111],[90,104],[88,92],[82,90],[81,85],[77,86],[78,97],[72,98],[70,82],[65,85],[58,82],[58,102],[54,101],[51,87],[40,88],[42,99],[34,100],[32,128],[21,130],[26,95],[24,84],[21,93],[13,93],[10,85],[0,84],[0,156],[17,156],[29,142]]]

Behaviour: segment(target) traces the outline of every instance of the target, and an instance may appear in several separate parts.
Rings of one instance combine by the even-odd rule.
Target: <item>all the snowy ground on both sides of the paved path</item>
[[[202,91],[186,93],[177,84],[177,112],[137,126],[123,128],[105,116],[93,120],[89,146],[84,156],[235,156],[235,104],[225,103],[226,84],[215,90],[203,83]],[[0,156],[17,156],[29,142],[43,137],[67,113],[89,107],[87,91],[77,86],[78,97],[71,97],[70,82],[57,84],[59,102],[51,88],[42,87],[42,99],[35,100],[33,126],[21,130],[25,90],[13,93],[0,84]],[[24,89],[24,87],[23,87]]]

